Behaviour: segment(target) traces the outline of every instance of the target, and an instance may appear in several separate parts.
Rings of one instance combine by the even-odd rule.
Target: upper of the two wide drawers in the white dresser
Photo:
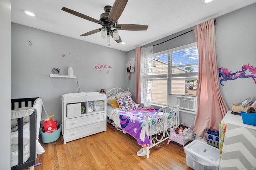
[[[66,119],[66,129],[76,128],[95,122],[106,121],[105,114],[106,113],[98,113],[95,115],[86,115],[82,117],[76,117],[73,119]]]

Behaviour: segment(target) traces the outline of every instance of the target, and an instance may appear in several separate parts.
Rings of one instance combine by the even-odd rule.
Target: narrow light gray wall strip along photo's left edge
[[[0,152],[0,167],[3,170],[8,170],[11,167],[11,2],[10,0],[0,1],[0,136],[1,152]]]

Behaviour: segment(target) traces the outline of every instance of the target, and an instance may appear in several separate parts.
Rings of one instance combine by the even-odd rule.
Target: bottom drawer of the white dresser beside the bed
[[[92,134],[106,131],[106,121],[84,125],[78,128],[66,130],[66,142],[83,138]]]

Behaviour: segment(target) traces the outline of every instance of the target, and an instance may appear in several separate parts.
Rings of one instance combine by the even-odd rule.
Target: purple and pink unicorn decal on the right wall
[[[241,71],[236,71],[235,73],[231,73],[232,71],[229,71],[226,68],[220,67],[219,68],[219,77],[222,77],[223,79],[220,79],[220,84],[223,85],[222,81],[227,80],[235,80],[237,78],[252,78],[254,80],[254,83],[256,84],[256,76],[252,74],[256,74],[256,67],[250,66],[249,64],[243,65]]]

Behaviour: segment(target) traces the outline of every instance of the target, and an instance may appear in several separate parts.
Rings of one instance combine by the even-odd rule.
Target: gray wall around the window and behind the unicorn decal
[[[254,67],[256,66],[255,9],[256,3],[215,18],[218,67],[226,67],[234,73],[241,70],[242,65],[248,63]],[[189,28],[144,46],[155,45],[154,53],[157,53],[196,42],[194,31],[174,38],[192,29],[193,28]],[[174,39],[156,45],[171,38]],[[127,59],[134,56],[136,56],[135,49],[128,51]],[[256,84],[252,78],[238,78],[233,81],[224,81],[223,84],[224,86],[220,85],[220,90],[229,110],[232,110],[232,103],[239,103],[247,97],[252,97],[253,101],[256,101]],[[135,95],[135,72],[132,74],[128,87]],[[187,126],[193,127],[194,119],[195,115],[180,112],[180,122],[185,123]]]

